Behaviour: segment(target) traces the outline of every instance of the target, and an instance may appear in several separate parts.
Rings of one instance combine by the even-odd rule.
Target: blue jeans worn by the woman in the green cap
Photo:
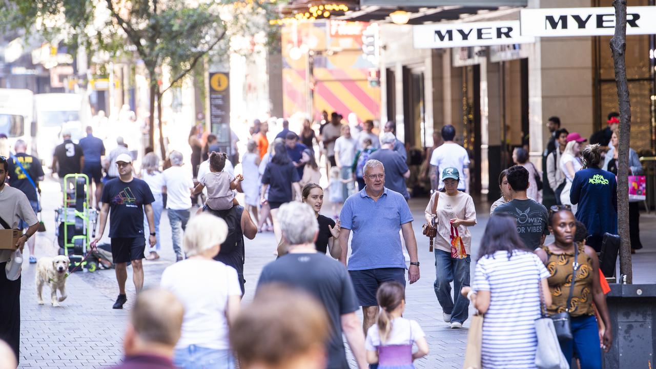
[[[435,249],[435,295],[442,311],[451,314],[451,322],[464,322],[469,316],[469,300],[461,295],[463,286],[469,286],[469,271],[472,259],[451,257],[451,253]],[[453,297],[451,297],[453,282]]]

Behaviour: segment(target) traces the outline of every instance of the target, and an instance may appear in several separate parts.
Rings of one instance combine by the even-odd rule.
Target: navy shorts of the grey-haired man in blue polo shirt
[[[396,280],[405,288],[404,268],[365,269],[363,271],[348,271],[351,282],[356,290],[360,306],[378,306],[376,292],[382,282]]]

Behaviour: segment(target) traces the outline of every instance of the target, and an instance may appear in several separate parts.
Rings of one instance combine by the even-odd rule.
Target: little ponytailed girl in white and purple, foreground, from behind
[[[380,305],[378,322],[367,332],[367,362],[379,369],[414,369],[416,358],[428,355],[424,331],[415,320],[401,318],[405,310],[405,289],[399,282],[384,282],[376,293]],[[412,352],[413,343],[417,352]]]

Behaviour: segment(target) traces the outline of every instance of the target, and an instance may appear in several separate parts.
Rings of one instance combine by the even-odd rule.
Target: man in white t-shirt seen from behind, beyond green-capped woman
[[[432,173],[440,174],[438,190],[444,188],[441,178],[443,169],[454,167],[458,169],[458,173],[462,173],[458,183],[458,189],[469,193],[469,154],[467,154],[467,150],[453,141],[455,138],[455,127],[453,125],[447,124],[442,127],[441,135],[444,143],[433,150],[433,154],[430,157],[430,169]]]

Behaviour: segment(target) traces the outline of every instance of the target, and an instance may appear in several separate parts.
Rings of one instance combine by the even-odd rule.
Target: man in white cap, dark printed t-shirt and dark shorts
[[[129,154],[119,155],[116,158],[116,166],[119,169],[119,178],[111,179],[102,188],[102,208],[98,222],[100,227],[96,239],[91,242],[91,248],[95,250],[96,244],[102,238],[111,209],[112,258],[116,268],[116,280],[119,283],[119,297],[116,299],[113,309],[123,309],[123,304],[127,301],[125,280],[127,280],[128,261],[132,263],[136,292],[144,287],[144,269],[141,263],[146,250],[144,212],[148,218],[148,228],[150,228],[150,238],[148,239],[150,246],[155,246],[157,238],[155,238],[155,222],[151,206],[155,202],[155,198],[150,191],[150,186],[141,179],[133,178],[132,157]]]

